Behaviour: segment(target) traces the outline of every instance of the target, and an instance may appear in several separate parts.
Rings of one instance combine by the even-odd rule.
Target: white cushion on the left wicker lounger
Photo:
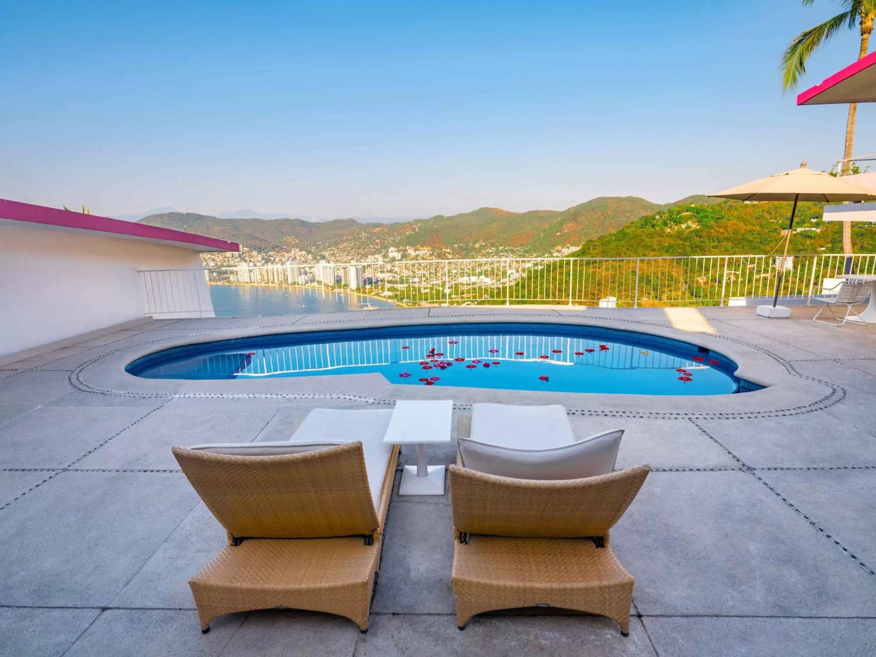
[[[347,442],[362,442],[365,471],[374,508],[380,506],[386,468],[392,456],[392,444],[383,442],[386,427],[392,418],[392,409],[345,411],[335,408],[314,408],[301,422],[291,441],[285,442],[229,442],[214,445],[195,445],[213,454],[232,456],[275,456],[300,454],[314,449],[326,449]]]

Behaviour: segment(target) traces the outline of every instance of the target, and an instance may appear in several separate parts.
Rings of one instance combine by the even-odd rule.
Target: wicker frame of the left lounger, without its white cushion
[[[228,546],[189,580],[201,632],[223,614],[277,606],[338,614],[367,632],[398,446],[378,509],[361,442],[285,456],[173,455],[228,532]]]

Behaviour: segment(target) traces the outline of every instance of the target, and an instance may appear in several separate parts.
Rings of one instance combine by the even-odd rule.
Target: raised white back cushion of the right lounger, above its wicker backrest
[[[604,431],[552,449],[511,449],[460,438],[463,467],[515,479],[582,479],[607,475],[618,458],[623,429]]]

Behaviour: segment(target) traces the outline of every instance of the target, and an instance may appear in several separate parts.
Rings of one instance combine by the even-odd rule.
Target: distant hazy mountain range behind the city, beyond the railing
[[[361,223],[356,219],[309,222],[304,219],[223,218],[162,212],[141,223],[238,242],[257,251],[331,254],[338,261],[386,254],[393,247],[427,251],[434,258],[544,256],[583,244],[663,209],[718,202],[703,195],[675,203],[653,203],[637,196],[602,196],[565,210],[509,212],[478,208],[459,215],[436,215],[400,223]]]

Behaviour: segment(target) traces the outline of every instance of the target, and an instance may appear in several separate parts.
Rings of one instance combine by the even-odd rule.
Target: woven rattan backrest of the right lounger
[[[520,538],[604,536],[648,476],[640,465],[600,477],[535,481],[450,466],[453,524],[459,532]]]

